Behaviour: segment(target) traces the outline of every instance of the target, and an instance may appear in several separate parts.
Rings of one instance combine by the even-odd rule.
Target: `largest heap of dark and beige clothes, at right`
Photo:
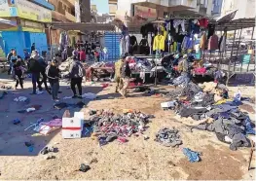
[[[250,118],[239,110],[242,103],[238,96],[229,98],[224,85],[190,82],[175,101],[178,103],[175,112],[181,120],[189,122],[193,119],[198,123],[196,126],[192,124],[192,128],[214,131],[220,141],[230,143],[231,150],[250,146],[247,134],[255,134]]]

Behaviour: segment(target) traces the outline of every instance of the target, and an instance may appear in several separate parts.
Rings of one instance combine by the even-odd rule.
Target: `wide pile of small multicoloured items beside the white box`
[[[92,114],[89,121],[93,127],[91,136],[96,138],[100,145],[114,140],[125,143],[133,133],[143,135],[145,125],[149,123],[150,118],[154,117],[135,111],[116,115],[113,112],[101,110]]]

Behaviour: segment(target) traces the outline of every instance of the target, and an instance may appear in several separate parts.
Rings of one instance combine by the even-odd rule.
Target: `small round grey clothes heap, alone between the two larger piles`
[[[175,147],[181,145],[182,140],[178,132],[179,131],[174,127],[172,129],[165,127],[158,131],[158,133],[156,134],[155,141],[160,142],[162,145],[166,147]]]

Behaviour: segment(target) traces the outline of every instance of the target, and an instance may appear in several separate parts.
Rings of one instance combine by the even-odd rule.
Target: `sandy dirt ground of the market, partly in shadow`
[[[13,81],[1,79],[1,84],[14,85]],[[167,89],[159,87],[158,89]],[[254,88],[245,89],[244,95],[254,97]],[[61,84],[60,97],[71,95],[71,90]],[[234,90],[233,88],[231,90]],[[235,89],[236,90],[236,89]],[[189,129],[177,123],[172,111],[164,111],[160,103],[167,97],[148,96],[141,93],[130,93],[126,99],[119,98],[114,93],[114,86],[104,90],[100,84],[85,86],[84,92],[97,93],[98,98],[85,102],[82,110],[87,115],[90,109],[112,109],[122,112],[123,109],[140,110],[146,114],[154,114],[155,119],[148,125],[145,134],[150,137],[144,140],[142,136],[131,136],[128,143],[112,142],[103,147],[90,137],[81,139],[62,139],[61,130],[55,130],[48,136],[32,137],[33,130],[24,129],[35,123],[39,118],[46,121],[55,115],[62,116],[63,111],[53,109],[53,101],[47,93],[29,95],[31,84],[26,83],[24,90],[10,90],[9,94],[0,99],[0,180],[8,179],[193,179],[193,180],[254,180],[255,169],[247,171],[250,148],[240,148],[231,151],[229,145],[218,141],[212,132]],[[245,91],[244,91],[245,92]],[[18,104],[13,99],[24,95],[30,98],[30,103],[40,104],[42,108],[30,114],[18,114],[17,110],[28,105]],[[66,100],[77,102],[78,100]],[[254,121],[255,109],[247,105],[251,119]],[[13,125],[13,120],[19,118],[21,124]],[[167,148],[154,141],[156,132],[162,127],[176,127],[183,140],[179,148]],[[25,141],[33,141],[35,148],[28,152]],[[58,148],[55,159],[46,160],[39,151],[46,145]],[[200,163],[189,163],[181,149],[190,148],[202,153]],[[91,163],[93,161],[93,163]],[[255,160],[254,160],[255,161]],[[91,163],[88,172],[78,171],[81,163]],[[255,164],[252,164],[255,167]]]

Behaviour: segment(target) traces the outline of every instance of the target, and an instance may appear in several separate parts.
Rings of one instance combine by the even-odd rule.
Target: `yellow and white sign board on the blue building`
[[[18,17],[51,22],[52,12],[26,0],[0,0],[0,17]]]

